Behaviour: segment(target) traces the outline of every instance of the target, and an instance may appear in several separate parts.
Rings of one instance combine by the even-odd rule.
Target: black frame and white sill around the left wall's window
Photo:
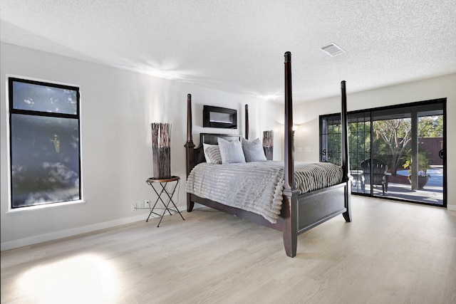
[[[7,81],[7,150],[8,150],[8,211],[7,213],[16,213],[18,211],[26,211],[33,209],[43,209],[49,206],[66,206],[68,204],[79,204],[85,203],[83,200],[83,180],[82,180],[82,145],[81,145],[81,88],[78,85],[71,85],[67,83],[56,83],[47,80],[38,80],[36,78],[26,78],[23,76],[16,75],[6,75]],[[66,112],[51,112],[41,110],[24,110],[16,107],[14,108],[14,83],[28,83],[32,85],[42,85],[44,87],[58,88],[63,90],[73,90],[76,92],[76,112],[75,113],[66,113]],[[77,199],[66,199],[63,201],[45,201],[39,204],[30,204],[26,206],[14,206],[13,196],[14,196],[14,179],[13,179],[13,155],[14,155],[14,145],[13,145],[13,116],[14,115],[28,115],[31,117],[56,117],[61,119],[69,118],[71,120],[77,121],[77,153],[78,153],[78,198]]]

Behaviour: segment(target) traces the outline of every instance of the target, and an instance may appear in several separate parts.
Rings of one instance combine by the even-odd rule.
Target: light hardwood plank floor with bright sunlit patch
[[[352,204],[295,258],[279,231],[206,208],[2,251],[1,303],[456,303],[455,211]]]

